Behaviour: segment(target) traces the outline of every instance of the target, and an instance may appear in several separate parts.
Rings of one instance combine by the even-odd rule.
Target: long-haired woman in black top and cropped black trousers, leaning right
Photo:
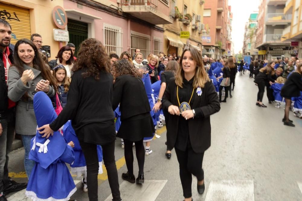
[[[257,102],[256,105],[259,107],[266,108],[267,106],[262,103],[264,89],[265,89],[265,83],[272,82],[274,83],[275,80],[271,77],[275,74],[275,62],[270,61],[267,66],[259,70],[259,73],[257,74],[255,78],[255,83],[258,85],[258,94],[257,94]]]

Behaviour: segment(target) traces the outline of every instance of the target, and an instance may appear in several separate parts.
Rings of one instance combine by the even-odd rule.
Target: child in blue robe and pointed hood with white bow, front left
[[[44,92],[34,95],[34,112],[38,127],[53,122],[57,115]],[[66,201],[76,192],[76,185],[65,163],[75,159],[73,142],[66,143],[60,132],[43,138],[37,131],[31,139],[29,159],[36,163],[31,172],[25,195],[34,201]]]

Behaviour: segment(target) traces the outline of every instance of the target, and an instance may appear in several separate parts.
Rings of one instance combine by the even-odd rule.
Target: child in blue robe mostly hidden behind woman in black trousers
[[[76,132],[73,130],[71,125],[71,120],[69,120],[63,127],[63,136],[66,139],[67,142],[72,141],[74,143],[73,151],[75,153],[75,160],[73,164],[70,164],[71,167],[71,173],[76,174],[77,177],[83,176],[82,183],[83,183],[83,191],[87,192],[87,168],[86,168],[86,160],[84,157],[84,153],[82,151],[82,148],[80,146],[80,142],[78,137],[76,136]],[[102,167],[102,160],[103,160],[103,152],[101,145],[97,145],[97,152],[98,152],[98,173],[103,173],[103,167]]]

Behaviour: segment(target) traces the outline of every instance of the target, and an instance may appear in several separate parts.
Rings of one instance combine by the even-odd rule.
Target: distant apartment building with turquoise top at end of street
[[[253,12],[249,16],[249,21],[245,24],[244,39],[242,53],[243,55],[251,55],[254,59],[258,57],[258,49],[256,49],[256,30],[257,30],[258,11]]]

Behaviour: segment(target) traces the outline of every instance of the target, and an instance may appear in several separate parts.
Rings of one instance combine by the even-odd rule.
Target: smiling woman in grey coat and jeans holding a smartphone
[[[36,135],[37,128],[34,94],[43,91],[53,97],[56,85],[39,50],[30,40],[21,39],[16,43],[14,57],[14,66],[11,66],[8,72],[8,98],[17,103],[15,131],[22,136],[25,150],[24,167],[29,178],[34,161],[28,159],[28,154],[31,150],[31,138]]]

